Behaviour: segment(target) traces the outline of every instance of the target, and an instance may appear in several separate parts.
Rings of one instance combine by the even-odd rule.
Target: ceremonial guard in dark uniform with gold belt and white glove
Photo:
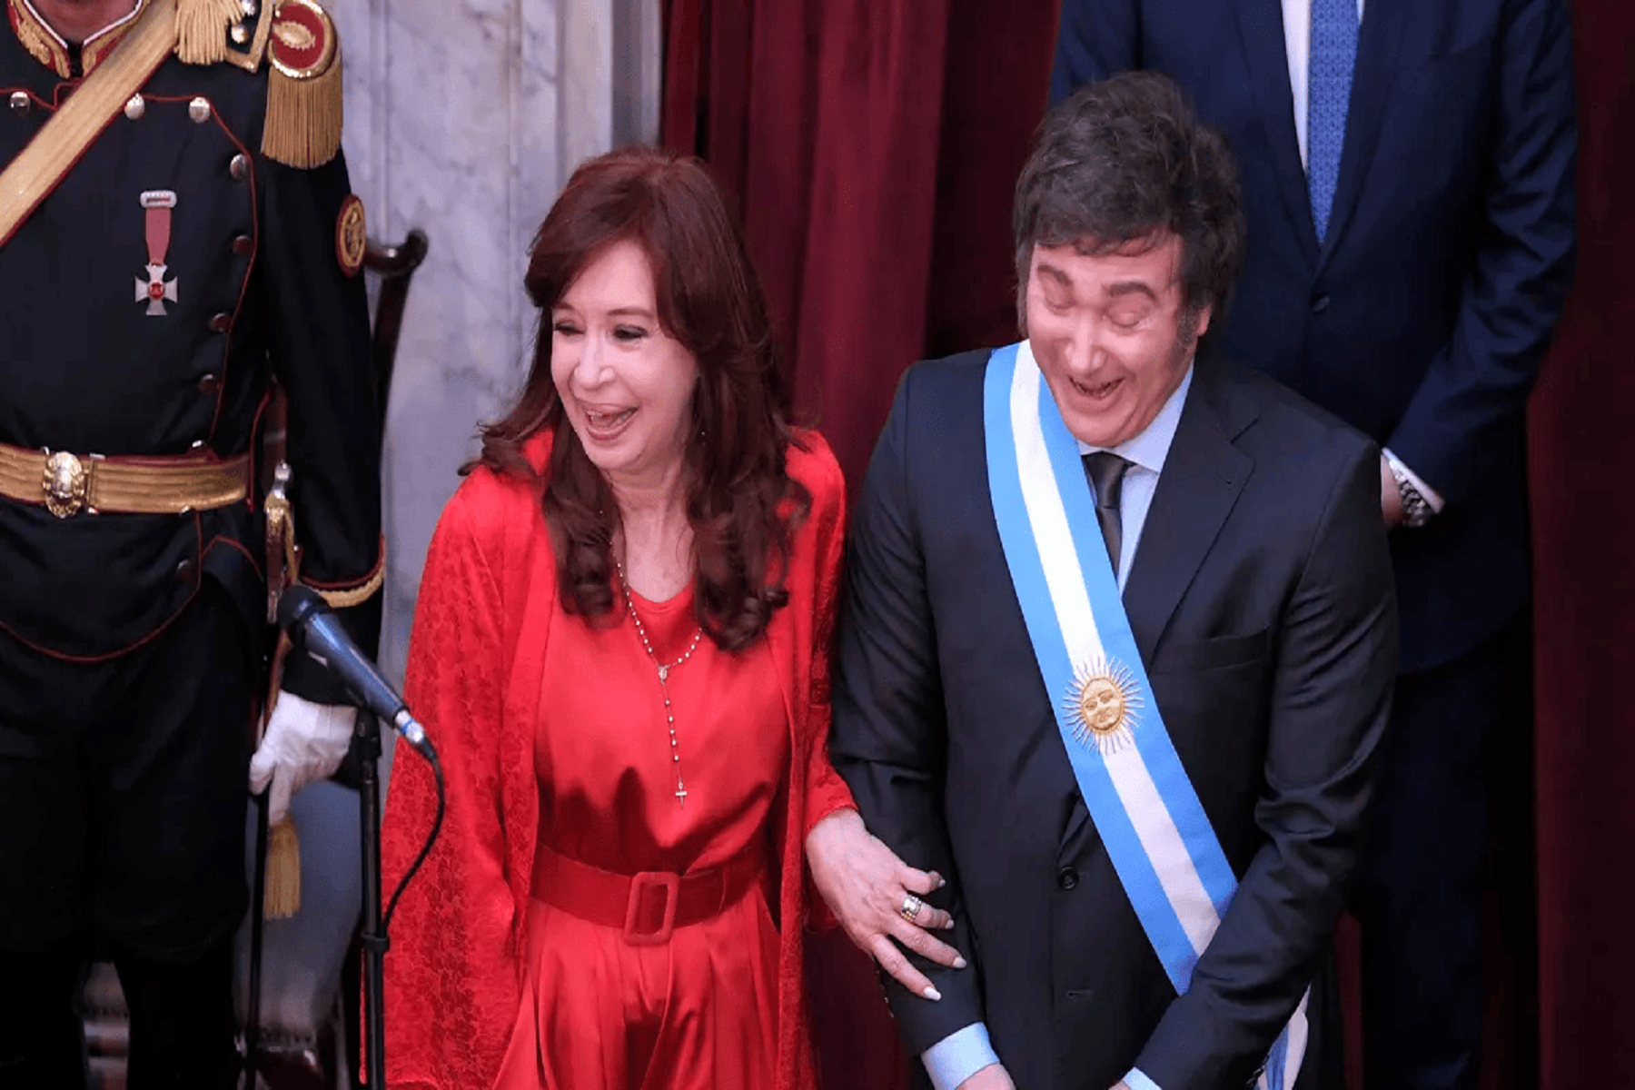
[[[353,721],[291,657],[257,745],[270,590],[379,626],[340,49],[314,0],[0,3],[0,1085],[83,1085],[96,956],[129,1087],[232,1087],[245,773],[276,822]]]

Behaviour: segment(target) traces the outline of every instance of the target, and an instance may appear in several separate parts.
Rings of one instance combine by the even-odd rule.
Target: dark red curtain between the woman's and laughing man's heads
[[[1059,0],[665,0],[664,141],[739,201],[853,485],[927,353],[1015,337],[1010,188]]]

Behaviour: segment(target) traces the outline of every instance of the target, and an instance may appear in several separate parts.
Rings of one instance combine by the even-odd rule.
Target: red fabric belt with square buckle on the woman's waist
[[[667,943],[679,927],[721,915],[764,873],[764,850],[755,842],[719,866],[687,874],[615,874],[540,843],[533,856],[533,896],[580,920],[623,928],[631,946],[651,946]]]

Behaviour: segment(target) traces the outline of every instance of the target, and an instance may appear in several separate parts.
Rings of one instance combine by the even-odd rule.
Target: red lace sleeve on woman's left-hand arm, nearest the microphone
[[[517,905],[505,881],[499,730],[505,677],[502,510],[482,471],[432,538],[405,698],[443,766],[443,832],[404,891],[386,956],[391,1087],[487,1087],[515,1021]],[[430,766],[399,747],[383,827],[383,884],[396,887],[432,827]]]

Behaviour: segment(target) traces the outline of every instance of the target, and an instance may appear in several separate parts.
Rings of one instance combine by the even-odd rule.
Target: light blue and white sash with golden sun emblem
[[[988,361],[988,482],[1010,580],[1084,804],[1177,994],[1238,879],[1153,699],[1107,559],[1079,444],[1027,342]],[[1261,1090],[1292,1090],[1306,1000],[1272,1046]]]

